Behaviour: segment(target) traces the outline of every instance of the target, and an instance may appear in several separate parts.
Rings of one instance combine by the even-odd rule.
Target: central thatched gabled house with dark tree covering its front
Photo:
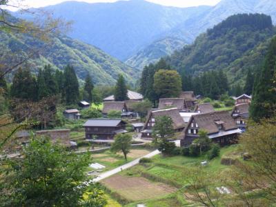
[[[154,110],[148,114],[144,128],[141,131],[142,138],[152,138],[152,128],[155,126],[155,119],[162,116],[168,116],[172,119],[173,128],[176,132],[181,132],[184,129],[185,123],[177,108]]]

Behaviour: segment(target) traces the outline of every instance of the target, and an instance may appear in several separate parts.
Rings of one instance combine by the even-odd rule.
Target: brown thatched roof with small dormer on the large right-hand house
[[[217,124],[215,124],[215,122],[221,123],[224,130],[226,131],[237,128],[234,119],[231,117],[228,111],[216,111],[206,114],[193,115],[187,126],[190,126],[190,123],[191,121],[193,121],[193,119],[195,120],[199,128],[206,130],[209,135],[219,132],[219,128],[217,127]],[[186,128],[185,130],[187,129],[188,128]]]

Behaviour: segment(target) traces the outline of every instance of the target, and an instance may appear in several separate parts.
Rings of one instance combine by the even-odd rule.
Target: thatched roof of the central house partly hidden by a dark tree
[[[182,117],[180,116],[178,109],[177,108],[169,108],[169,109],[155,110],[155,111],[150,112],[150,114],[148,115],[146,124],[144,125],[144,128],[146,128],[146,125],[148,124],[148,121],[150,121],[151,117],[156,118],[156,117],[161,117],[161,116],[168,116],[168,117],[172,118],[174,129],[179,129],[179,128],[185,127],[185,122],[182,119]]]

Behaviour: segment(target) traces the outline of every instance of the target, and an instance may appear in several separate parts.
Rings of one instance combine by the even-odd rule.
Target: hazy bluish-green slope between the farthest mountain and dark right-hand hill
[[[170,37],[161,39],[139,51],[136,55],[133,55],[130,59],[125,61],[125,63],[128,66],[142,70],[144,66],[157,62],[160,57],[171,55],[175,50],[180,50],[185,45],[186,42],[181,39]]]

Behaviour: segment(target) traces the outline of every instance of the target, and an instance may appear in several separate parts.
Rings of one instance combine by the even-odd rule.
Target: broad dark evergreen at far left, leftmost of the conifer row
[[[19,68],[12,79],[11,97],[37,101],[37,81],[29,69]]]

